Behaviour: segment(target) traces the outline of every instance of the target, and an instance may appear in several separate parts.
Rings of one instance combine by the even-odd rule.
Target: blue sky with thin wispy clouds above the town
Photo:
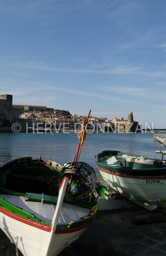
[[[0,94],[166,128],[165,0],[1,0]]]

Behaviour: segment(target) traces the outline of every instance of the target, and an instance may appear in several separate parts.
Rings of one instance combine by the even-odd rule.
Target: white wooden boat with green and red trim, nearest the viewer
[[[96,201],[64,199],[67,173],[59,195],[48,194],[60,169],[30,157],[0,166],[0,228],[24,256],[56,256],[94,221]]]

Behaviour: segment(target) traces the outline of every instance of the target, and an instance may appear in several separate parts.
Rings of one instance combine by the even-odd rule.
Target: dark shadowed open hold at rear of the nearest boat
[[[0,188],[25,194],[27,191],[49,194],[50,186],[58,172],[47,166],[17,165],[11,166],[0,174]],[[50,194],[51,195],[51,194]]]

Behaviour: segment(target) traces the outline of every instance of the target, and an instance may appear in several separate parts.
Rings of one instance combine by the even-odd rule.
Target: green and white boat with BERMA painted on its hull
[[[115,150],[102,151],[94,158],[113,191],[149,210],[161,207],[166,211],[165,160]]]

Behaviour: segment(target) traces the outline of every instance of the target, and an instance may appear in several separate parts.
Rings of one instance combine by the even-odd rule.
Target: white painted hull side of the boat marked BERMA
[[[166,179],[129,178],[99,170],[113,191],[149,209],[166,209]]]

